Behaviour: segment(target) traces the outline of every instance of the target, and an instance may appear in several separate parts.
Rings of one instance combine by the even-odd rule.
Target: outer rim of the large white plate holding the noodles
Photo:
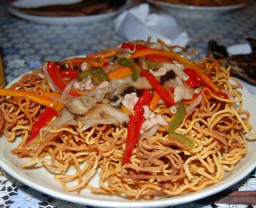
[[[32,71],[30,71],[32,72]],[[29,72],[26,72],[29,73]],[[11,84],[15,83],[17,80],[19,80],[23,75],[26,73],[21,74],[19,77],[15,78],[12,82],[10,82],[6,88],[8,88]],[[247,90],[247,88],[243,87],[242,89],[242,97],[244,99],[244,96],[249,96],[251,99],[253,99],[253,102],[256,104],[256,99],[253,97],[253,95]],[[244,100],[243,100],[244,101]],[[253,126],[256,128],[256,125]],[[255,129],[256,130],[256,129]],[[5,142],[8,142],[5,138],[4,135],[0,136],[0,140],[4,139]],[[11,142],[8,142],[8,144],[12,144]],[[1,149],[2,142],[0,141],[0,149]],[[249,141],[248,141],[249,145]],[[1,155],[2,153],[0,153]],[[254,153],[256,156],[256,153]],[[15,159],[18,159],[16,157]],[[242,158],[244,159],[244,158]],[[195,192],[190,192],[188,194],[183,194],[179,196],[174,196],[174,197],[166,197],[166,198],[160,198],[160,199],[152,199],[152,200],[129,200],[129,199],[124,199],[124,201],[117,201],[117,200],[108,200],[108,199],[90,199],[90,198],[83,198],[81,195],[71,195],[69,192],[65,192],[64,190],[57,191],[53,190],[51,188],[48,188],[46,186],[42,186],[38,184],[37,182],[34,182],[33,180],[29,180],[28,176],[21,176],[15,165],[12,163],[6,163],[2,157],[0,157],[0,166],[2,167],[3,170],[5,170],[10,176],[13,176],[16,180],[24,183],[26,186],[36,189],[38,192],[47,194],[51,197],[54,197],[56,199],[62,199],[66,201],[70,201],[72,203],[80,204],[80,205],[96,205],[96,206],[102,206],[102,207],[161,207],[161,206],[168,206],[168,205],[182,205],[182,204],[187,204],[189,202],[196,201],[198,199],[204,199],[212,194],[218,194],[219,192],[223,191],[225,188],[230,188],[230,186],[236,184],[237,182],[240,182],[243,178],[245,178],[249,173],[251,173],[255,168],[256,168],[256,160],[253,160],[253,162],[248,163],[247,165],[244,165],[244,169],[241,171],[241,175],[238,175],[235,177],[233,180],[227,180],[224,181],[224,179],[217,184],[213,184],[212,186],[208,186],[206,188],[201,189],[200,191],[195,191]],[[241,162],[241,161],[240,161]],[[15,167],[14,167],[15,166]],[[226,172],[224,172],[226,173]],[[232,172],[231,172],[232,173]],[[224,182],[222,184],[221,188],[218,187],[219,183]],[[57,182],[56,182],[57,183]],[[215,186],[214,186],[215,185]],[[99,194],[100,196],[101,194]],[[104,194],[103,194],[104,195]],[[105,195],[104,195],[105,196]]]

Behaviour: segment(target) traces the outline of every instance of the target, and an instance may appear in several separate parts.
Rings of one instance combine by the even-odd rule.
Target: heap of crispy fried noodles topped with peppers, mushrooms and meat
[[[254,136],[229,68],[134,41],[47,61],[0,90],[1,132],[24,169],[78,194],[171,197],[221,182]],[[4,138],[2,138],[4,139]],[[98,176],[98,184],[90,181]]]

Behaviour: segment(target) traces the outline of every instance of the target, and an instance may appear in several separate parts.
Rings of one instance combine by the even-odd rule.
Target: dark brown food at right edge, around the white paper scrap
[[[219,45],[215,40],[210,40],[208,42],[207,56],[220,60],[224,67],[231,66],[231,75],[256,85],[256,39],[247,38],[247,41],[251,46],[252,53],[229,55],[224,45]]]

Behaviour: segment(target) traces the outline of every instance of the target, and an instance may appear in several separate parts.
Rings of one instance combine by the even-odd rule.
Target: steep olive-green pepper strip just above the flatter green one
[[[177,107],[177,113],[175,113],[174,117],[170,121],[170,123],[167,125],[167,131],[171,132],[173,130],[176,130],[177,127],[183,122],[183,118],[186,115],[186,108],[183,105],[183,103],[180,103]]]

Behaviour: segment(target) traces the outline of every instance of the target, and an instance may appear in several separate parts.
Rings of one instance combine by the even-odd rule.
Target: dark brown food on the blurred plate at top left
[[[106,14],[118,10],[125,4],[125,0],[83,0],[79,3],[67,5],[50,5],[38,8],[20,8],[21,12],[38,16],[84,16],[93,14]]]

